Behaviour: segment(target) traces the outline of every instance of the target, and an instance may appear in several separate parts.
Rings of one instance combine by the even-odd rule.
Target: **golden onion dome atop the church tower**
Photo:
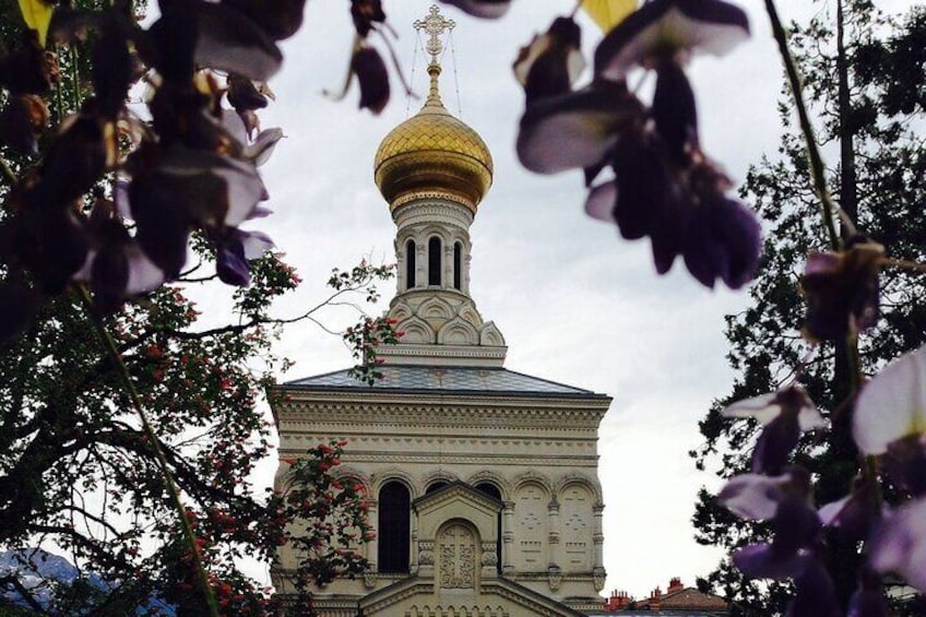
[[[491,185],[492,159],[483,139],[444,109],[437,88],[440,67],[428,67],[430,92],[422,110],[380,143],[373,163],[390,207],[420,193],[449,193],[476,212]]]

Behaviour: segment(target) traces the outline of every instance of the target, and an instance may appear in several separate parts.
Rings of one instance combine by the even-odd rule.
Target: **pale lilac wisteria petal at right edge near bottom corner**
[[[869,544],[868,562],[926,592],[926,499],[903,506],[881,522]]]

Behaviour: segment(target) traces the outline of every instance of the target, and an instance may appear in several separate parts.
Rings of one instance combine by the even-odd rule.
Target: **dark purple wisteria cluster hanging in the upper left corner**
[[[146,29],[124,3],[94,11],[21,2],[27,28],[0,58],[0,86],[9,93],[0,139],[37,154],[52,86],[56,115],[73,112],[37,164],[10,178],[0,305],[21,308],[3,334],[21,330],[31,309],[72,281],[86,282],[96,308],[108,313],[127,295],[177,278],[194,233],[215,251],[219,278],[248,284],[249,260],[272,242],[239,226],[266,214],[257,167],[282,137],[278,129],[260,132],[254,111],[272,97],[265,81],[281,66],[276,41],[296,32],[304,2],[162,2]],[[87,32],[93,90],[74,90],[66,100],[46,38],[70,46]],[[126,106],[140,79],[150,90],[150,120]]]

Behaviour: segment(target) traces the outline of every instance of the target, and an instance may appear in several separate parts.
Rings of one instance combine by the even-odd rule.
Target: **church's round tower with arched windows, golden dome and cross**
[[[470,295],[470,226],[491,185],[492,158],[483,139],[440,98],[439,35],[454,26],[437,7],[415,22],[427,35],[428,97],[379,146],[376,183],[395,223],[397,289],[389,317],[404,332],[379,349],[387,364],[501,367],[507,347]]]

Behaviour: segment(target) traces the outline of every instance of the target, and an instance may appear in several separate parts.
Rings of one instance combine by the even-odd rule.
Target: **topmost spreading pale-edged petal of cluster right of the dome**
[[[746,13],[721,0],[653,0],[631,13],[595,50],[595,74],[621,80],[634,66],[684,62],[692,51],[721,56],[749,37]]]

